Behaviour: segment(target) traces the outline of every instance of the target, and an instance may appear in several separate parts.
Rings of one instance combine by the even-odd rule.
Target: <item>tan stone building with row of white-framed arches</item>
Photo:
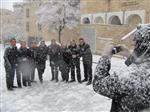
[[[81,35],[93,52],[101,53],[108,43],[125,43],[121,38],[139,23],[150,23],[150,0],[81,0]]]

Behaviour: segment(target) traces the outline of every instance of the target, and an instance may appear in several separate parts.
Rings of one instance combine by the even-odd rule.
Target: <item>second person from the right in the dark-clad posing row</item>
[[[69,46],[71,52],[71,81],[75,81],[75,69],[77,73],[77,80],[81,83],[81,71],[80,71],[80,55],[79,47],[76,45],[75,40],[72,40]]]

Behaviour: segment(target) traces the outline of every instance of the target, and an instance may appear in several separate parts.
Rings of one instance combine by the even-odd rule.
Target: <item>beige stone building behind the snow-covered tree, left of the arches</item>
[[[56,32],[51,30],[47,27],[42,27],[40,24],[37,23],[37,11],[39,10],[40,6],[49,0],[24,0],[23,7],[22,7],[22,14],[23,14],[23,27],[25,32],[25,37],[29,45],[31,42],[36,41],[39,42],[40,40],[50,41],[52,38],[58,39],[58,35]],[[14,5],[16,8],[17,5]],[[79,37],[80,30],[78,28],[69,30],[65,29],[62,32],[62,41],[67,43],[70,42],[71,39],[76,39]]]

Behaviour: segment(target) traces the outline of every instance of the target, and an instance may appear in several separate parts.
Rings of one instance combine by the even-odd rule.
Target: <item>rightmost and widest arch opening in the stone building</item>
[[[132,14],[127,18],[127,24],[138,25],[142,23],[142,18],[138,14]]]

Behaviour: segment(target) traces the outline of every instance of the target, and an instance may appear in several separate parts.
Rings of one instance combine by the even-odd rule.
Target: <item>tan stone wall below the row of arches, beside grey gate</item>
[[[132,49],[132,38],[122,41],[121,38],[132,31],[135,27],[128,25],[81,25],[83,28],[95,28],[96,37],[96,53],[102,53],[107,44],[125,44]]]

